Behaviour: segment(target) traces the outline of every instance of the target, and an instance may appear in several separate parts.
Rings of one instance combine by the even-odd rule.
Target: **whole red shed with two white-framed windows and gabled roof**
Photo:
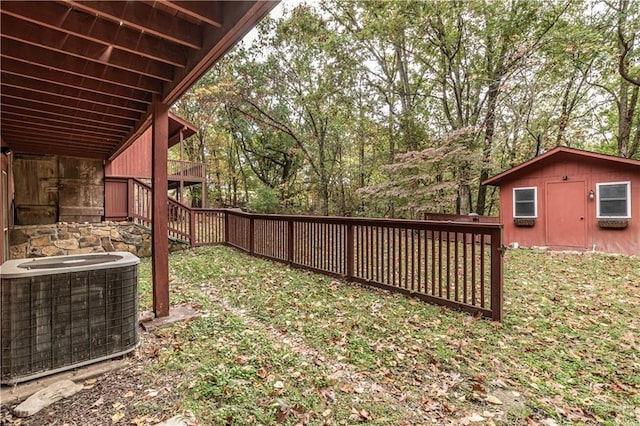
[[[640,161],[557,147],[483,184],[500,187],[506,243],[640,254]]]

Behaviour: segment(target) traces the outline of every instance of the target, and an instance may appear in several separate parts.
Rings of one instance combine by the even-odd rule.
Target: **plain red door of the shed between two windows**
[[[545,198],[547,245],[585,248],[585,182],[549,182]]]

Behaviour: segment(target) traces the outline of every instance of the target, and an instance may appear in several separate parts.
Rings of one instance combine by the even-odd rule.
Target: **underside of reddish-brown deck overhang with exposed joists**
[[[0,2],[3,144],[115,158],[276,3]]]

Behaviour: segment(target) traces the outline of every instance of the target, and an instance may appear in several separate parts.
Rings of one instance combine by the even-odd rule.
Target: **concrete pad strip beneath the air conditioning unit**
[[[87,379],[101,376],[109,371],[119,370],[127,365],[128,361],[125,359],[111,359],[29,382],[15,385],[2,385],[2,387],[0,387],[0,404],[9,405],[17,401],[22,401],[60,380],[72,380],[80,383]]]

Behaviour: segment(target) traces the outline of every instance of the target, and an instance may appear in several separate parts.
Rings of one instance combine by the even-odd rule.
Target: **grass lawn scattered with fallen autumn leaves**
[[[169,262],[204,315],[145,374],[201,424],[640,423],[639,257],[508,251],[502,324],[225,247]]]

